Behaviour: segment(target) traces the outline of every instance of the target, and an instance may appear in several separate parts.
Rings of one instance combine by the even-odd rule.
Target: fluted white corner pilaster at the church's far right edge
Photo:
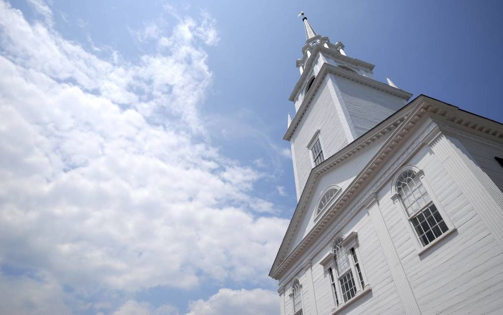
[[[439,134],[428,145],[503,247],[503,205],[498,201],[501,199],[501,191],[474,162],[458,139]]]

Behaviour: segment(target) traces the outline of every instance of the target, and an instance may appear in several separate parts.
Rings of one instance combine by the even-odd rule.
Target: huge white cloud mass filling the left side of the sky
[[[65,298],[31,303],[65,313],[68,292],[270,283],[288,222],[258,215],[273,212],[250,194],[260,172],[198,140],[212,80],[204,45],[218,34],[206,13],[177,21],[147,26],[158,49],[132,63],[99,58],[0,1],[0,262],[44,275],[17,278],[18,299],[49,286]]]

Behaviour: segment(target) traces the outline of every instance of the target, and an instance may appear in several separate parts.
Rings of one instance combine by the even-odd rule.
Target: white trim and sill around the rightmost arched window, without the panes
[[[398,192],[396,191],[396,182],[398,180],[398,177],[405,171],[407,170],[412,170],[415,172],[415,175],[423,186],[425,186],[425,190],[432,199],[433,203],[435,204],[435,207],[437,208],[437,211],[440,213],[442,216],[442,219],[444,220],[445,224],[447,225],[447,231],[445,231],[442,235],[431,241],[428,245],[423,245],[421,243],[421,240],[419,239],[419,236],[417,235],[417,232],[414,230],[414,227],[412,226],[412,222],[408,215],[405,213],[405,207],[403,206],[403,203],[400,200],[400,196],[398,195]],[[454,226],[454,223],[451,221],[449,216],[447,215],[447,212],[445,211],[444,207],[440,203],[440,200],[438,199],[437,195],[435,194],[435,191],[433,190],[432,186],[430,185],[430,182],[426,179],[425,177],[425,172],[418,168],[416,165],[404,165],[402,166],[399,170],[396,171],[395,175],[393,176],[393,179],[391,180],[391,200],[393,201],[393,204],[398,204],[396,208],[399,208],[398,212],[401,213],[401,217],[403,220],[405,220],[407,223],[406,225],[409,227],[408,230],[412,234],[412,239],[415,239],[415,244],[416,244],[416,249],[417,249],[417,255],[421,256],[423,253],[428,251],[431,247],[433,247],[435,244],[439,243],[442,239],[450,235],[452,232],[456,230],[456,227]],[[420,210],[421,211],[421,210]],[[415,215],[415,214],[414,214]],[[413,217],[412,215],[411,217]]]

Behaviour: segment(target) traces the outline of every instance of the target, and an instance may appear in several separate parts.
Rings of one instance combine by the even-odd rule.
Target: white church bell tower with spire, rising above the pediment
[[[289,100],[283,139],[290,141],[297,200],[313,167],[359,138],[406,104],[412,94],[389,78],[374,79],[374,65],[346,55],[344,44],[318,35],[303,12],[306,41],[297,60],[300,78]]]

